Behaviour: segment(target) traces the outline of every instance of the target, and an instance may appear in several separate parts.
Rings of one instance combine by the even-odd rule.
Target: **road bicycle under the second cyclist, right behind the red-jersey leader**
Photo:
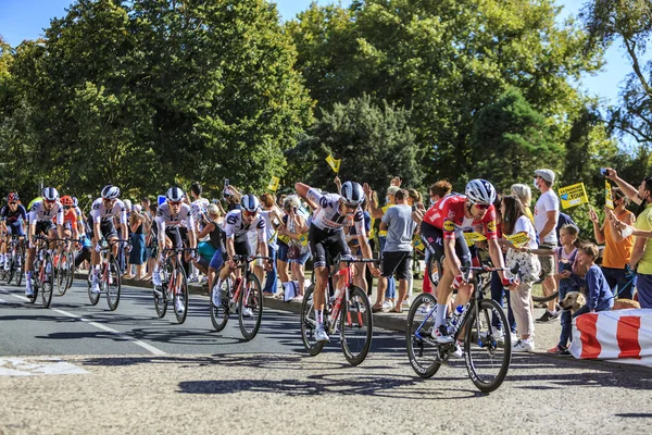
[[[340,263],[346,263],[346,268],[340,269]],[[328,268],[324,327],[329,335],[335,335],[339,328],[344,358],[350,364],[358,365],[364,361],[372,346],[374,320],[366,293],[352,284],[354,263],[378,263],[378,260],[356,259],[350,256],[338,256],[335,259],[334,266]],[[338,277],[337,290],[334,276]],[[315,284],[312,284],[305,290],[301,306],[301,339],[312,357],[318,355],[325,345],[324,341],[315,339],[317,322],[314,290]]]

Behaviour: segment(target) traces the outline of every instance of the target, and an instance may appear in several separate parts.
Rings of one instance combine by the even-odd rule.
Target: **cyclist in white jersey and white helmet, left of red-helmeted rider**
[[[25,296],[28,298],[34,296],[32,287],[32,271],[34,270],[35,243],[34,237],[43,234],[48,237],[63,238],[63,207],[59,202],[59,192],[54,187],[46,187],[41,192],[41,201],[34,202],[29,210],[29,229],[27,231],[27,256],[25,259]],[[50,244],[50,249],[54,249],[54,245]]]

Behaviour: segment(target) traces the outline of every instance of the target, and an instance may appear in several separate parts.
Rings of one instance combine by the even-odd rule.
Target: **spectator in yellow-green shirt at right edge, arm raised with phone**
[[[618,177],[618,173],[611,167],[606,169],[605,176],[615,182],[627,198],[641,206],[642,211],[634,223],[634,227],[639,231],[651,231],[652,176],[645,177],[638,189]],[[617,223],[617,220],[614,222]],[[629,264],[637,272],[636,288],[641,308],[652,308],[652,249],[648,249],[647,237],[637,236],[635,238]]]

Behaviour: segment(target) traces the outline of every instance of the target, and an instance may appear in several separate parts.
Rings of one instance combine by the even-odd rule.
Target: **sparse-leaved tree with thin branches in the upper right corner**
[[[622,42],[632,72],[620,89],[619,107],[611,108],[613,127],[647,146],[652,145],[652,58],[645,50],[652,37],[652,3],[649,0],[593,0],[581,16],[590,38],[587,49]]]

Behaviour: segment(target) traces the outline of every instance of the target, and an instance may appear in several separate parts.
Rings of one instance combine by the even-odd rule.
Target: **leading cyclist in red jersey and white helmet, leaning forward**
[[[489,256],[497,268],[504,268],[504,261],[498,245],[496,226],[496,189],[486,179],[472,179],[466,185],[465,195],[451,194],[438,200],[424,215],[421,225],[422,239],[439,263],[439,284],[437,285],[437,316],[432,336],[438,343],[452,343],[453,338],[446,327],[447,302],[452,286],[463,283],[462,268],[472,265],[472,254],[464,231],[484,226],[488,239]],[[499,276],[504,286],[513,283],[505,278],[502,271]],[[459,288],[455,304],[464,306],[471,296],[471,286]]]

